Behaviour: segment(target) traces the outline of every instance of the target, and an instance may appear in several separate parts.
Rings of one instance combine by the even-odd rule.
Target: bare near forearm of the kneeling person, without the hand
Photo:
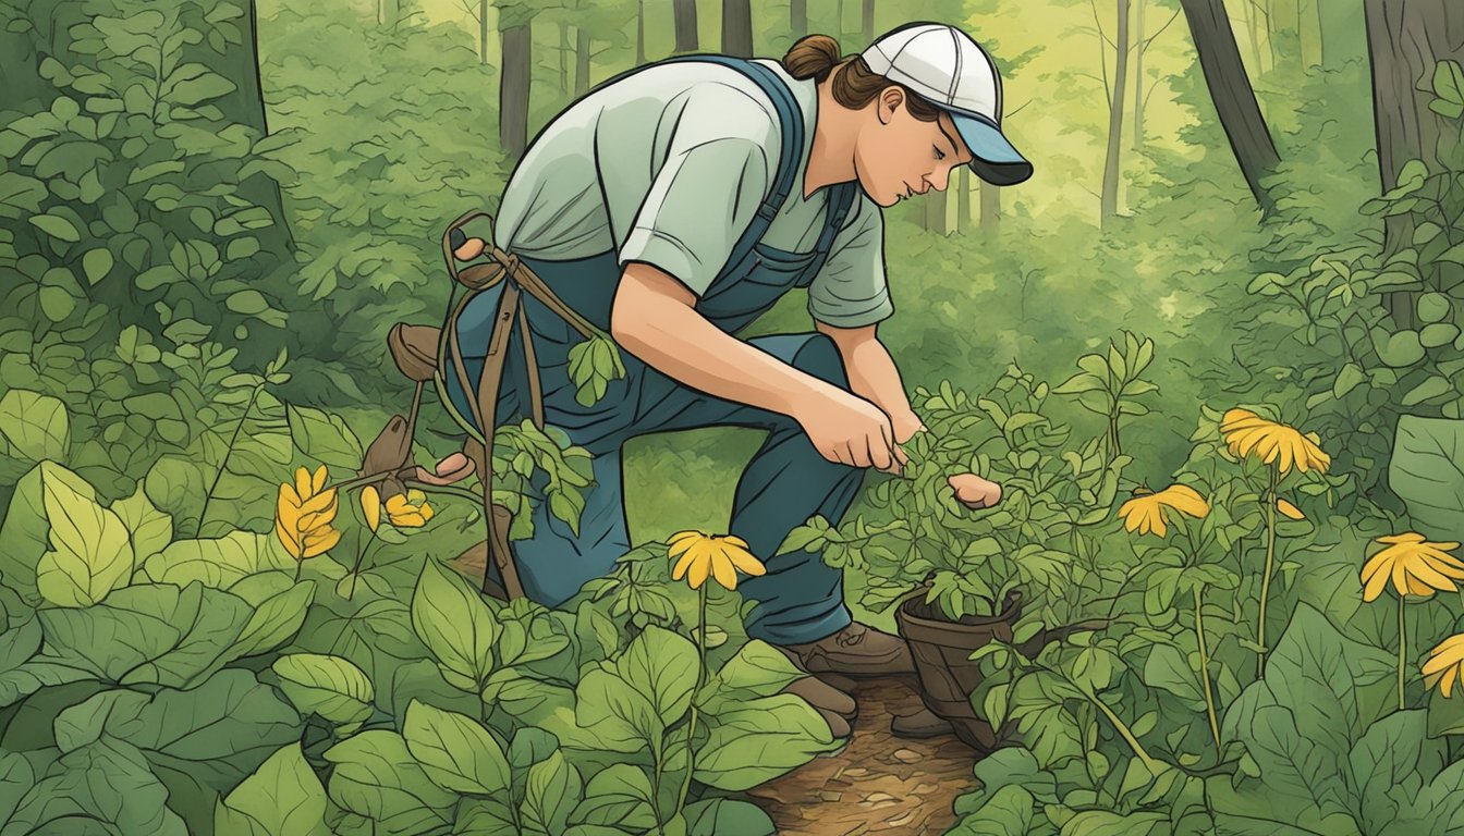
[[[688,387],[791,417],[815,392],[839,394],[833,384],[726,334],[682,300],[635,287],[622,291],[631,296],[616,300],[615,340],[646,365]]]

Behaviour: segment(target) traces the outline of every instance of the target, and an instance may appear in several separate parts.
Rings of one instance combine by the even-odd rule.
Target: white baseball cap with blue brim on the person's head
[[[1001,135],[1001,75],[971,35],[946,23],[906,23],[861,53],[870,70],[947,111],[988,183],[1013,186],[1032,164]]]

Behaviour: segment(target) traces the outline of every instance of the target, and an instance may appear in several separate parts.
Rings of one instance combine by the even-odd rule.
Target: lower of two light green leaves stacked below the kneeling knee
[[[512,783],[502,747],[473,717],[413,700],[401,734],[411,757],[438,786],[495,795]]]

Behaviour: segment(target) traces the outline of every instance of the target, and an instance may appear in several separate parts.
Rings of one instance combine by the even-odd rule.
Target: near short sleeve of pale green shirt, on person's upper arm
[[[665,163],[621,245],[619,264],[651,264],[701,296],[767,196],[776,123],[763,104],[725,83],[678,97],[668,122]]]

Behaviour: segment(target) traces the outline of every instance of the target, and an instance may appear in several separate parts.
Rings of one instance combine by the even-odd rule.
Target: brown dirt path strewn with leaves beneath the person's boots
[[[953,735],[903,739],[890,719],[919,707],[915,678],[858,682],[859,717],[843,751],[748,791],[773,817],[780,836],[944,833],[952,802],[972,788],[975,753]]]

